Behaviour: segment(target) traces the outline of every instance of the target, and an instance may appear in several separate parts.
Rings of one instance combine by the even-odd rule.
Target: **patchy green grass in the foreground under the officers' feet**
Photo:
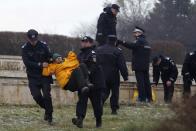
[[[162,120],[174,116],[166,105],[121,106],[117,116],[111,115],[109,106],[105,106],[103,127],[96,129],[89,106],[84,128],[78,129],[71,123],[75,106],[55,108],[53,126],[44,122],[43,113],[38,107],[0,106],[0,131],[151,131]]]

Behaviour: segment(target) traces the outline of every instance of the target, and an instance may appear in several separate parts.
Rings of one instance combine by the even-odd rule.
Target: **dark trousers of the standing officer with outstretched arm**
[[[135,71],[139,101],[152,101],[152,91],[150,86],[149,71]]]

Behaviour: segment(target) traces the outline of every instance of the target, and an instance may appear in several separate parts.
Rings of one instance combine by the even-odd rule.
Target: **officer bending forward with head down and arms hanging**
[[[160,75],[164,86],[164,100],[166,103],[171,103],[174,93],[174,83],[178,76],[177,67],[171,58],[161,55],[153,58],[154,84],[158,84]]]

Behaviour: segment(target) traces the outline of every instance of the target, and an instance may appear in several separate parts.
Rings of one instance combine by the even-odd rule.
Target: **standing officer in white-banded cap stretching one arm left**
[[[133,30],[134,42],[118,40],[117,45],[122,45],[132,50],[132,70],[135,71],[139,102],[151,102],[152,93],[149,80],[149,63],[151,47],[145,39],[144,29],[135,27]]]

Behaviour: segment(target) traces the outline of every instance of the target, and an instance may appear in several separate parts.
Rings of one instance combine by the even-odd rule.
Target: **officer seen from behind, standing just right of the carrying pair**
[[[120,74],[125,81],[128,80],[128,69],[121,49],[115,46],[116,37],[108,37],[107,43],[97,48],[97,58],[103,67],[106,88],[104,90],[103,101],[105,102],[110,95],[110,106],[112,114],[117,114],[119,109],[119,86]]]

